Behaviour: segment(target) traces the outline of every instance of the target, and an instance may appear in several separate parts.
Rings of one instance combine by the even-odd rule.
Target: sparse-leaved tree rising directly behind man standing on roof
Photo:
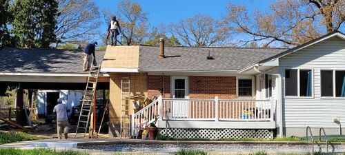
[[[146,23],[148,21],[147,14],[143,12],[139,3],[121,0],[117,3],[116,14],[122,30],[118,39],[120,45],[144,43],[150,33],[148,32],[149,26]],[[103,16],[108,25],[115,14],[112,14],[109,10],[103,10]]]

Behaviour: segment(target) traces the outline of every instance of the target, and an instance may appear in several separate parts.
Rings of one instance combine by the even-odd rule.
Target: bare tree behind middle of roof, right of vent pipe
[[[169,27],[170,32],[188,46],[221,46],[230,39],[220,21],[202,14],[172,23]]]

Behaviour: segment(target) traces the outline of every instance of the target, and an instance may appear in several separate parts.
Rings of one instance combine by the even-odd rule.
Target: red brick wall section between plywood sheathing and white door
[[[148,76],[148,96],[152,99],[152,95],[159,96],[159,90],[163,89],[163,76],[149,75]],[[170,76],[164,76],[164,97],[170,98]]]

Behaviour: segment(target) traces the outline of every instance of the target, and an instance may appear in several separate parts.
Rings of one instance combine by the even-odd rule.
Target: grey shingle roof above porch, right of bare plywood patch
[[[279,54],[277,48],[190,48],[165,47],[166,58],[159,59],[159,47],[140,45],[140,70],[242,70]],[[210,56],[215,59],[208,60]]]

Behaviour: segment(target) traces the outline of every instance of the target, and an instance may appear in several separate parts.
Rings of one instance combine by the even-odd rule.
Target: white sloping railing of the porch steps
[[[161,101],[161,96],[158,97],[152,103],[146,105],[138,112],[132,114],[132,136],[135,135],[141,128],[144,128],[146,125],[155,122],[159,116],[159,101]]]

